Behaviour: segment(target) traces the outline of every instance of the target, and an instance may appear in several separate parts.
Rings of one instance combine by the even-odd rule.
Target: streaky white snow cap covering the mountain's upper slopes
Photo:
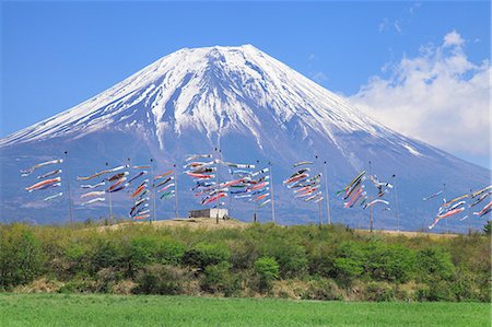
[[[283,129],[298,117],[303,126],[332,141],[332,126],[385,137],[383,127],[341,97],[246,45],[178,50],[93,98],[2,139],[0,145],[67,135],[78,138],[115,124],[142,124],[162,145],[165,130],[180,133],[190,127],[209,135],[250,130],[258,136],[257,108],[270,110]]]

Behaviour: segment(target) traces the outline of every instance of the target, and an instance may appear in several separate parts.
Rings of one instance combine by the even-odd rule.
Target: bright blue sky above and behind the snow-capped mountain
[[[489,147],[470,151],[456,148],[452,140],[455,135],[447,144],[410,126],[422,125],[417,118],[401,126],[397,119],[385,120],[401,115],[400,112],[393,115],[390,107],[384,107],[384,112],[374,109],[375,101],[385,97],[384,92],[398,96],[415,89],[399,80],[412,72],[396,73],[407,67],[406,59],[420,62],[424,58],[442,67],[438,60],[454,58],[453,54],[460,51],[460,60],[465,58],[471,66],[465,71],[460,68],[458,73],[440,71],[444,81],[449,78],[468,83],[477,74],[488,72],[490,62],[483,60],[490,58],[490,3],[485,1],[12,1],[1,5],[0,137],[68,109],[179,48],[253,44],[325,87],[367,107],[367,113],[383,117],[384,124],[466,160],[490,165]],[[434,51],[432,58],[430,49]],[[395,89],[395,83],[401,87]],[[473,92],[470,97],[476,97]],[[438,105],[445,108],[458,104]],[[489,110],[483,105],[484,100],[475,104],[482,115]],[[415,103],[414,110],[422,106]],[[406,107],[409,109],[413,110]],[[490,129],[490,125],[473,124],[468,125],[469,132]],[[442,125],[443,121],[435,121],[434,127]]]

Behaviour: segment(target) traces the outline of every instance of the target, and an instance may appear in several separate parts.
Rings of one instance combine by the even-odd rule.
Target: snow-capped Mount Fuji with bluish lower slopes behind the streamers
[[[3,108],[8,109],[8,108]],[[402,117],[403,119],[403,117]],[[215,149],[227,161],[272,164],[278,222],[317,222],[318,208],[293,201],[280,180],[290,165],[315,161],[327,168],[332,221],[367,225],[367,211],[342,209],[335,191],[361,170],[397,184],[388,195],[391,211],[374,211],[376,229],[420,230],[440,206],[422,197],[446,185],[452,198],[490,182],[487,168],[459,160],[426,143],[407,138],[352,107],[251,45],[180,49],[159,59],[96,96],[0,139],[0,222],[67,222],[67,201],[44,202],[23,188],[20,168],[68,151],[74,219],[107,215],[106,205],[80,207],[74,176],[90,175],[109,165],[155,162],[156,171],[181,167],[187,154]],[[315,160],[317,157],[317,160]],[[179,168],[178,168],[179,170]],[[66,172],[67,173],[67,172]],[[223,172],[225,174],[225,170]],[[396,177],[393,177],[393,176]],[[179,215],[198,207],[191,182],[179,174]],[[114,199],[116,215],[127,215],[130,200]],[[324,217],[326,217],[325,208]],[[233,201],[232,215],[250,220],[253,207]],[[157,218],[174,215],[173,203],[157,201]],[[267,207],[259,212],[268,221]],[[326,220],[326,218],[324,218]],[[397,222],[398,220],[398,222]],[[471,218],[450,218],[452,230],[480,227]],[[441,231],[444,223],[436,226]]]

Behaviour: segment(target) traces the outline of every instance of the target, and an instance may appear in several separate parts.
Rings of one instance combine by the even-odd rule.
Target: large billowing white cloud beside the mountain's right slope
[[[415,58],[386,66],[350,101],[376,120],[443,150],[490,156],[488,60],[472,63],[465,40],[453,31],[440,46],[426,45]]]

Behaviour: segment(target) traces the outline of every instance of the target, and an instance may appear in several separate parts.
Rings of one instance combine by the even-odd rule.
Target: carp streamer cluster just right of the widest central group
[[[320,188],[321,174],[317,173],[309,176],[313,165],[311,161],[301,161],[292,165],[296,170],[289,178],[283,180],[283,185],[293,190],[295,198],[304,200],[304,202],[318,203],[325,198]]]

